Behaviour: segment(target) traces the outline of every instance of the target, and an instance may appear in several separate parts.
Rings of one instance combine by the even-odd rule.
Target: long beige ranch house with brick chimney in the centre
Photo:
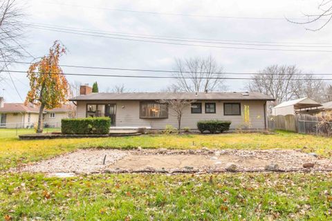
[[[80,96],[69,99],[77,106],[77,117],[109,116],[112,126],[127,128],[176,127],[172,108],[158,101],[181,97],[195,101],[184,110],[182,128],[196,129],[196,123],[204,119],[228,120],[231,128],[243,128],[243,110],[249,106],[251,128],[265,129],[266,102],[274,100],[261,93],[91,93],[85,85],[80,89]]]

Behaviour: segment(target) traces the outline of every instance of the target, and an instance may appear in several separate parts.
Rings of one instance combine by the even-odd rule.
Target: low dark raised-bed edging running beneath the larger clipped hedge
[[[19,135],[19,140],[49,140],[49,139],[59,139],[59,138],[89,138],[89,137],[129,137],[129,136],[139,136],[142,133],[111,133],[106,135],[68,135],[68,134],[51,134],[51,133],[42,133],[42,134],[24,134]]]

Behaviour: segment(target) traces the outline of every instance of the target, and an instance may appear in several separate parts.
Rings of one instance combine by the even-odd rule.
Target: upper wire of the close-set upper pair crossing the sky
[[[174,39],[190,39],[190,40],[203,40],[203,41],[226,41],[226,42],[246,42],[246,43],[262,43],[262,44],[320,44],[320,45],[329,45],[331,46],[332,43],[326,43],[326,42],[291,42],[291,41],[245,41],[245,40],[234,40],[234,39],[206,39],[206,38],[196,38],[196,37],[179,37],[179,36],[165,36],[165,35],[143,35],[143,34],[137,34],[133,32],[107,32],[104,30],[93,30],[89,28],[77,28],[72,26],[59,26],[54,24],[47,24],[47,23],[26,23],[26,26],[46,26],[48,28],[70,28],[73,30],[87,30],[91,32],[101,31],[106,33],[116,33],[116,34],[123,34],[123,35],[140,35],[145,37],[165,37],[165,38],[174,38]]]

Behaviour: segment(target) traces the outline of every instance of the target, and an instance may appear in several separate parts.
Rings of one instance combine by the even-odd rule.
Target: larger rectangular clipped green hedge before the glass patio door
[[[109,134],[111,119],[109,117],[89,117],[76,119],[62,119],[62,134]]]

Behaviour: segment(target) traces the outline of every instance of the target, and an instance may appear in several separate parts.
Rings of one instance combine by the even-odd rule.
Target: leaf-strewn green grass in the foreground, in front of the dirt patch
[[[332,173],[1,175],[14,220],[329,220]]]

